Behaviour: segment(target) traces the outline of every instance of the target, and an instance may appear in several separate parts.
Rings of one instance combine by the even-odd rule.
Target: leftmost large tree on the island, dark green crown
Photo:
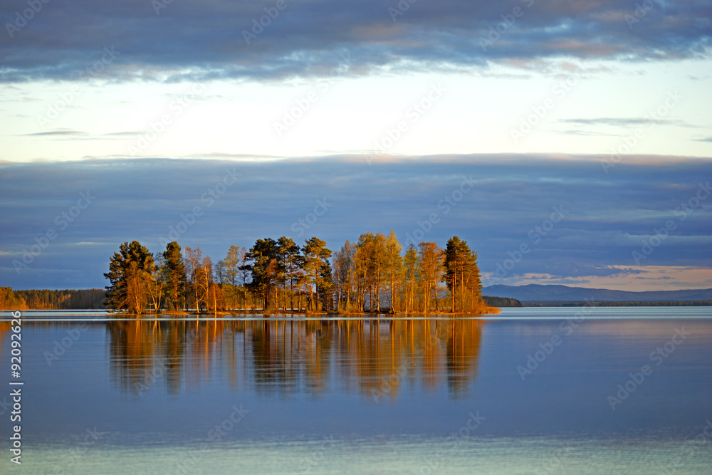
[[[153,256],[145,246],[138,241],[121,244],[110,259],[109,272],[104,273],[110,282],[106,287],[107,306],[142,314],[150,298],[153,271]]]

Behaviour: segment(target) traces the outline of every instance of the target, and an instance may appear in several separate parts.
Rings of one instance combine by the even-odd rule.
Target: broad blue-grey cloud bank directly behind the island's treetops
[[[605,174],[604,158],[442,155],[371,166],[362,155],[4,164],[0,249],[21,254],[50,229],[57,237],[33,261],[32,272],[18,275],[16,255],[0,255],[0,286],[60,286],[55,275],[62,276],[61,286],[103,286],[102,273],[120,243],[137,239],[156,252],[179,226],[185,228],[179,243],[200,246],[215,262],[231,244],[249,247],[266,236],[300,243],[319,236],[339,249],[364,232],[394,229],[402,244],[422,236],[444,246],[460,236],[490,275],[527,244],[530,252],[507,278],[548,274],[555,281],[594,281],[644,276],[632,252],[672,220],[675,229],[642,264],[712,268],[712,201],[684,220],[676,213],[712,176],[712,160],[641,156]],[[226,186],[230,173],[237,182]],[[73,207],[80,193],[95,199],[69,221],[63,213],[79,211]],[[328,211],[314,219],[317,200],[327,202]],[[553,207],[566,214],[550,228]]]

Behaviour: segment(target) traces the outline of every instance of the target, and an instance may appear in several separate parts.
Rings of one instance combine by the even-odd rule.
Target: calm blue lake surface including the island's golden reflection
[[[0,315],[3,473],[712,471],[709,307]]]

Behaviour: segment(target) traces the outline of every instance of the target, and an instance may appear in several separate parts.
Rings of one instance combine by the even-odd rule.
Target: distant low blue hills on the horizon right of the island
[[[516,298],[522,302],[651,302],[651,301],[710,301],[712,288],[682,291],[628,292],[612,291],[607,288],[584,288],[530,283],[526,286],[488,286],[482,294],[493,297]]]

